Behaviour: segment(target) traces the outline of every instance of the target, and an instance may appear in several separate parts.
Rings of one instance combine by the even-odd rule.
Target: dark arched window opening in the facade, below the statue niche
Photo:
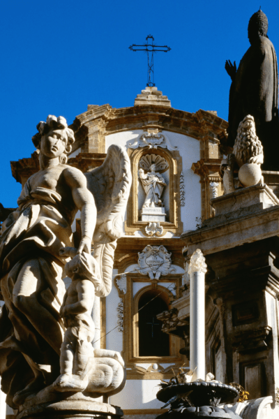
[[[170,355],[169,335],[162,332],[162,322],[156,318],[157,314],[167,309],[169,307],[163,300],[161,291],[149,290],[140,297],[138,303],[140,356]]]

